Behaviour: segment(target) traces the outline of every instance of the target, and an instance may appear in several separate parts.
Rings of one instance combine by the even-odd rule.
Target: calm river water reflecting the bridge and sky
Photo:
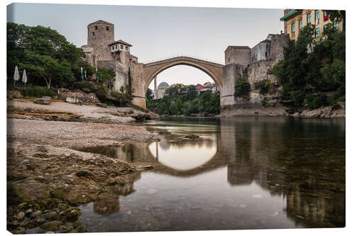
[[[183,118],[143,125],[160,132],[161,141],[105,152],[154,169],[124,176],[127,184],[81,206],[89,231],[344,227],[345,120]],[[204,140],[183,138],[192,133]]]

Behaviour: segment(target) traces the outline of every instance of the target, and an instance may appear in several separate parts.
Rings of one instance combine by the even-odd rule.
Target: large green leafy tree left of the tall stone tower
[[[50,28],[7,23],[6,45],[8,77],[17,65],[20,72],[26,69],[28,84],[69,86],[80,78],[80,67],[88,75],[94,71],[82,61],[82,49]]]

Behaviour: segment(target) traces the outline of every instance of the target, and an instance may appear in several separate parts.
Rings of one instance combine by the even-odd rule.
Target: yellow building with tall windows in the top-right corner
[[[330,21],[327,11],[323,10],[302,10],[302,9],[285,9],[284,16],[280,18],[284,21],[285,33],[290,35],[291,40],[297,40],[300,30],[307,24],[315,25],[315,38],[320,38]],[[333,22],[334,28],[342,29],[342,22]]]

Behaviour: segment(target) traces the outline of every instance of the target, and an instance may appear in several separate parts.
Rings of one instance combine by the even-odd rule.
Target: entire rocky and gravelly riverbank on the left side
[[[79,113],[84,116],[60,120],[18,112]],[[149,133],[144,127],[125,125],[146,116],[153,118],[155,114],[133,108],[10,101],[7,119],[8,230],[17,234],[86,232],[84,224],[78,221],[81,214],[78,206],[94,202],[96,210],[109,213],[112,209],[100,202],[115,201],[146,168],[77,150],[158,140],[158,135]]]

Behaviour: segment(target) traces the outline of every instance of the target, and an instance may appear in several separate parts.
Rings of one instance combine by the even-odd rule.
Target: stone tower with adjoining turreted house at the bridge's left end
[[[131,64],[138,57],[131,55],[132,45],[124,40],[114,40],[114,24],[95,21],[87,26],[87,45],[82,46],[84,60],[95,68],[111,68],[116,73],[114,90],[129,84]]]

